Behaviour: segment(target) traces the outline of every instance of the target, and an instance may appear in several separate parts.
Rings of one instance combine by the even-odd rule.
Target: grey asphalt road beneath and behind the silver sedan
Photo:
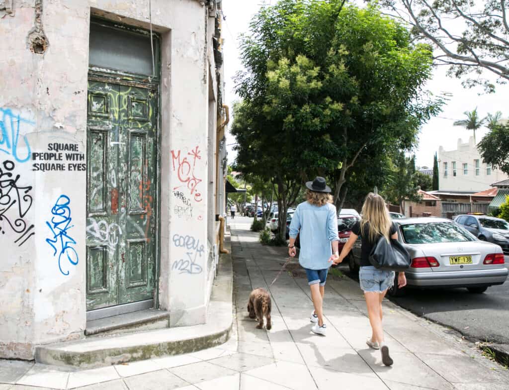
[[[509,267],[509,257],[505,257]],[[340,268],[350,275],[348,267]],[[353,277],[358,280],[357,277]],[[500,286],[489,287],[483,294],[467,289],[415,290],[390,298],[402,308],[459,330],[480,341],[509,344],[509,279]]]

